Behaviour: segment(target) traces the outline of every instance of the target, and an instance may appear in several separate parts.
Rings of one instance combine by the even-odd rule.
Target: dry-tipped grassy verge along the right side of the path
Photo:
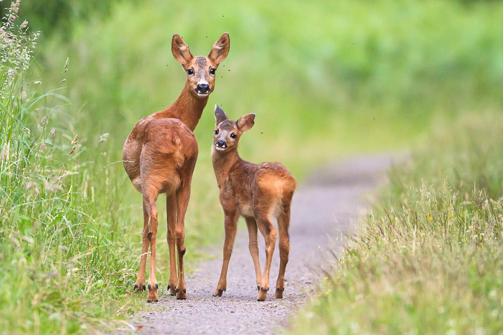
[[[294,332],[501,333],[501,125],[497,113],[444,124],[392,171]]]

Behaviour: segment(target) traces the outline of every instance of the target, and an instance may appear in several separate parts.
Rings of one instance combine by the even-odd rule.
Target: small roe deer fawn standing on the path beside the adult
[[[257,275],[257,300],[264,301],[269,290],[269,272],[276,245],[273,218],[278,220],[280,272],[276,282],[276,297],[282,298],[285,289],[285,268],[290,252],[290,203],[296,181],[281,163],[253,164],[241,159],[237,143],[242,133],[255,124],[255,114],[246,114],[237,122],[227,119],[225,112],[215,105],[216,128],[213,136],[211,160],[220,188],[220,203],[225,215],[225,242],[222,272],[213,296],[222,296],[227,288],[227,268],[236,237],[237,219],[244,216],[249,234],[249,250]],[[257,228],[266,240],[266,266],[260,273]]]

